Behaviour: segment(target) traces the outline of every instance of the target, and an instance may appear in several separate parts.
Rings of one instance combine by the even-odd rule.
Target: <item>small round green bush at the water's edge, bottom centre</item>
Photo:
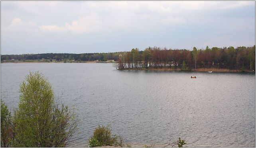
[[[122,146],[122,138],[111,135],[110,125],[106,127],[102,125],[94,130],[93,137],[89,139],[89,146]]]

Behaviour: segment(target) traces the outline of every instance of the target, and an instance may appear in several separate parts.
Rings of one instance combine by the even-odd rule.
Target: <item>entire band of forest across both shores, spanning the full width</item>
[[[253,47],[212,47],[205,49],[166,49],[148,47],[144,51],[137,48],[128,52],[115,53],[45,53],[24,55],[1,55],[1,62],[8,60],[74,60],[74,61],[116,61],[117,69],[132,68],[228,68],[236,70],[255,70],[255,45]]]

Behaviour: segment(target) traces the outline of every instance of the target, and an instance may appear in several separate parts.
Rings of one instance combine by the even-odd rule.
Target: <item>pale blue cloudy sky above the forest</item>
[[[255,45],[255,1],[1,1],[1,55]]]

